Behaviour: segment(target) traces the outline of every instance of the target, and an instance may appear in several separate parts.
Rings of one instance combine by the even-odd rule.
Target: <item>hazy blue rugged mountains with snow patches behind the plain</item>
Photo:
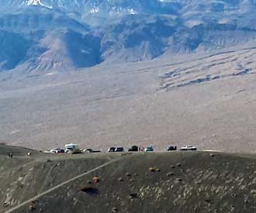
[[[0,71],[152,60],[256,38],[255,0],[0,2]]]

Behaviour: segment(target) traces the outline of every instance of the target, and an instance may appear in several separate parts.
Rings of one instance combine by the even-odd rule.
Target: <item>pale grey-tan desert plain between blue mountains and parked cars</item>
[[[256,149],[256,50],[0,75],[0,141],[36,149],[78,143]]]

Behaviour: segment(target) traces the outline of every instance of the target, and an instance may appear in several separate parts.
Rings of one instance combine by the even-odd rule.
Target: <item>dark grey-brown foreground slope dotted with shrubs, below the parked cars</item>
[[[0,211],[116,157],[13,212],[255,212],[254,155],[209,152],[2,156]]]

